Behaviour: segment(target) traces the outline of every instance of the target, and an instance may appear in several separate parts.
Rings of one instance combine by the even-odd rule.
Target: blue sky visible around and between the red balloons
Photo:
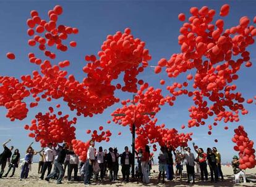
[[[228,17],[224,17],[225,28],[236,26],[239,18],[247,15],[251,20],[255,16],[255,1],[0,1],[0,75],[15,76],[19,78],[22,74],[31,74],[33,70],[39,70],[38,66],[28,62],[28,52],[35,52],[37,57],[43,58],[43,55],[34,47],[27,45],[27,24],[26,20],[30,17],[30,10],[37,10],[41,18],[47,18],[47,12],[56,4],[63,7],[64,13],[59,17],[58,23],[74,26],[79,28],[79,34],[70,36],[70,41],[77,41],[77,47],[69,49],[67,52],[57,52],[57,58],[51,61],[57,64],[62,60],[70,60],[71,65],[66,70],[69,74],[74,74],[75,78],[82,81],[85,74],[82,71],[86,62],[85,55],[97,54],[100,46],[105,41],[108,34],[114,34],[116,31],[124,31],[126,27],[131,28],[135,38],[140,38],[146,42],[146,48],[150,50],[152,60],[151,66],[155,66],[160,58],[169,58],[174,53],[180,52],[180,46],[177,44],[177,36],[179,36],[179,28],[182,22],[179,22],[177,15],[185,13],[189,16],[190,7],[208,6],[215,9],[218,16],[220,7],[228,3],[231,6]],[[234,82],[237,90],[242,92],[245,98],[252,98],[256,95],[255,86],[255,44],[249,47],[251,52],[252,68],[242,66],[239,71],[239,79]],[[7,52],[14,52],[16,59],[10,61],[6,58]],[[195,73],[192,71],[192,73]],[[184,73],[179,78],[168,79],[166,74],[155,74],[153,68],[146,68],[139,75],[139,78],[148,81],[150,86],[160,87],[163,94],[166,95],[165,88],[173,82],[184,82],[189,73]],[[160,86],[160,79],[166,81],[165,86]],[[122,82],[122,75],[117,82]],[[132,94],[116,92],[116,96],[125,99],[132,98]],[[26,101],[30,101],[27,99]],[[53,100],[48,103],[41,100],[40,105],[30,109],[28,117],[23,121],[11,122],[5,117],[6,109],[0,108],[0,142],[12,139],[10,145],[19,148],[21,153],[25,152],[27,145],[33,141],[27,136],[28,132],[23,129],[24,124],[28,124],[31,119],[39,111],[47,111],[49,106],[61,104],[61,111],[64,114],[75,116],[69,111],[66,103],[61,100]],[[241,121],[237,123],[220,123],[214,127],[213,134],[209,136],[208,124],[213,124],[213,118],[208,119],[207,125],[193,129],[181,130],[181,124],[186,124],[189,119],[187,109],[192,105],[192,101],[186,96],[177,98],[173,107],[169,105],[163,106],[160,113],[157,114],[159,124],[166,124],[168,128],[176,128],[179,132],[194,132],[193,138],[195,143],[206,149],[207,147],[216,146],[223,157],[223,162],[231,160],[235,152],[233,151],[234,143],[231,141],[233,137],[233,129],[243,124],[245,130],[249,134],[249,138],[255,139],[256,110],[255,105],[244,106],[249,110],[249,114],[241,116]],[[117,146],[119,152],[123,151],[124,146],[130,145],[131,135],[129,127],[122,127],[116,124],[106,124],[111,120],[110,114],[114,109],[121,105],[116,104],[105,110],[103,114],[94,117],[78,117],[76,134],[77,139],[87,141],[90,138],[85,131],[87,129],[98,129],[103,125],[105,129],[111,130],[113,133],[109,143],[101,143],[103,148],[109,146]],[[224,126],[228,125],[229,130],[224,130]],[[122,135],[117,136],[121,131]],[[215,143],[215,138],[218,143]],[[190,143],[190,146],[192,144]],[[98,144],[96,145],[99,146]],[[35,149],[40,149],[39,143],[35,143]],[[1,150],[1,149],[0,149]]]

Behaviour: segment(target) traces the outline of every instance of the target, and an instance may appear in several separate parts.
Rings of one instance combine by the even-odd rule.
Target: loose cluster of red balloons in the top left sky
[[[63,12],[61,6],[55,6],[53,10],[48,11],[49,21],[41,19],[36,10],[30,12],[31,18],[28,18],[27,25],[28,36],[32,39],[28,40],[29,46],[36,46],[42,50],[46,57],[51,59],[56,58],[56,55],[46,50],[46,46],[56,46],[58,50],[66,51],[68,47],[62,42],[68,38],[69,34],[77,34],[79,30],[65,25],[57,25],[58,17]],[[40,36],[41,35],[41,36]],[[70,47],[75,47],[74,41],[70,42]]]

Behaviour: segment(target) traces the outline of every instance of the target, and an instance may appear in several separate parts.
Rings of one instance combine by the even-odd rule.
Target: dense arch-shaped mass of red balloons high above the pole
[[[100,96],[105,96],[108,92],[113,94],[110,82],[117,79],[121,72],[124,72],[125,85],[117,84],[116,89],[136,93],[137,82],[143,84],[136,76],[143,71],[143,67],[148,66],[148,60],[151,60],[148,49],[145,49],[145,42],[134,38],[130,34],[130,28],[126,28],[124,33],[117,31],[114,35],[108,35],[98,56],[99,60],[94,55],[85,57],[91,63],[83,67],[83,71],[88,74],[83,82]]]

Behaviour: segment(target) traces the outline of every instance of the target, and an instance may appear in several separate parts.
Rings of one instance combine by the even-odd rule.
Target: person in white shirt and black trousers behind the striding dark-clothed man
[[[48,169],[47,175],[49,175],[49,173],[51,173],[54,156],[55,156],[55,151],[53,150],[53,143],[48,143],[48,148],[46,148],[45,152],[43,153],[43,159],[45,162],[43,164],[43,170],[42,170],[41,177],[40,177],[41,180],[43,180],[43,178],[45,177],[46,169]]]

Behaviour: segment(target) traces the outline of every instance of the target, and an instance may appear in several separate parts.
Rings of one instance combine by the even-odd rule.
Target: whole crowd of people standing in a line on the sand
[[[49,143],[47,148],[41,149],[40,151],[35,151],[32,148],[33,143],[31,143],[27,148],[25,158],[20,163],[19,149],[15,149],[12,154],[14,147],[11,146],[8,148],[6,146],[10,141],[11,140],[8,140],[2,144],[4,151],[0,154],[0,178],[7,177],[11,170],[12,173],[9,177],[13,177],[15,169],[20,164],[20,180],[26,180],[33,163],[33,156],[39,154],[38,175],[40,175],[41,180],[49,181],[50,179],[56,179],[57,184],[61,184],[62,178],[67,170],[67,180],[83,181],[86,186],[90,185],[92,179],[102,182],[106,180],[106,177],[109,177],[110,181],[116,181],[118,180],[117,173],[119,171],[120,158],[122,181],[129,182],[130,169],[134,159],[137,159],[135,178],[142,181],[142,183],[150,183],[149,176],[151,166],[154,164],[154,155],[150,153],[150,147],[148,145],[146,145],[145,148],[140,148],[138,152],[135,151],[134,158],[127,146],[124,148],[122,154],[118,153],[117,148],[109,148],[108,151],[104,149],[103,151],[101,146],[97,151],[95,149],[95,141],[91,140],[90,147],[87,151],[87,160],[82,162],[79,160],[79,156],[72,151],[72,146],[67,145],[67,143],[63,143],[62,145],[58,144],[58,148],[53,147],[53,144]],[[182,170],[185,166],[187,171],[187,183],[191,181],[195,183],[195,166],[198,172],[200,171],[201,181],[208,181],[207,167],[210,169],[211,182],[216,183],[220,180],[224,180],[221,170],[221,154],[218,150],[215,147],[212,149],[207,148],[207,153],[205,153],[203,148],[197,148],[194,143],[193,146],[195,153],[197,153],[196,156],[189,147],[182,147],[181,151],[171,147],[161,147],[158,155],[158,182],[164,183],[165,178],[166,180],[182,180]],[[8,169],[4,175],[7,162]],[[240,177],[246,182],[245,172],[239,169],[239,157],[233,157],[232,165],[235,183],[239,183]],[[175,173],[174,167],[176,167]],[[74,178],[72,178],[73,171]],[[78,176],[78,171],[80,171],[80,176]]]

